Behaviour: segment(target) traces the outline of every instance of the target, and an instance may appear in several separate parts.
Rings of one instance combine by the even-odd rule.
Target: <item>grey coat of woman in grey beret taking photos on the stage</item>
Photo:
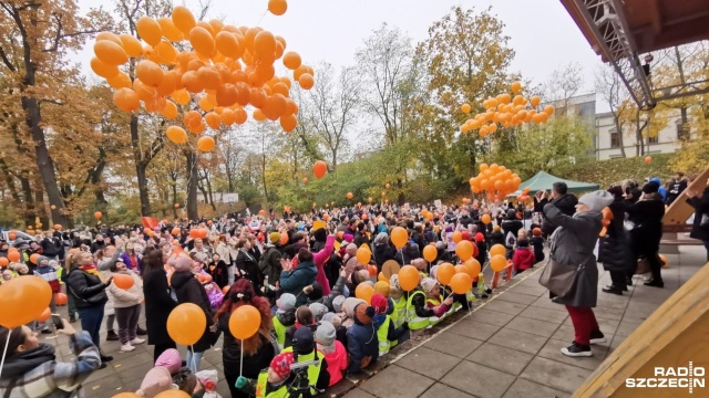
[[[544,207],[544,214],[553,224],[558,226],[552,234],[552,260],[566,266],[584,265],[568,294],[553,297],[553,301],[577,307],[596,306],[598,268],[594,250],[603,229],[603,216],[598,211],[584,211],[569,217],[552,203]]]

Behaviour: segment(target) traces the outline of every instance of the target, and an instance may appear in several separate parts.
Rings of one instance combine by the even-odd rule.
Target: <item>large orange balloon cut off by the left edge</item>
[[[52,289],[39,276],[13,277],[0,285],[0,325],[11,329],[37,320],[49,306]]]

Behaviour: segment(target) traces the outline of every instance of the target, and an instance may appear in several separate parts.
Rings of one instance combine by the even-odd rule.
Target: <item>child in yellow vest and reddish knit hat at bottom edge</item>
[[[270,360],[267,369],[258,374],[257,379],[239,376],[235,387],[248,397],[287,397],[294,380],[290,367],[295,362],[292,353],[280,353]]]

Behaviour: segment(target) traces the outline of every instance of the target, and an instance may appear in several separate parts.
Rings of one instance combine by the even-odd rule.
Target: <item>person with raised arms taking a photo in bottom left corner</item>
[[[83,396],[81,385],[103,365],[101,354],[89,332],[78,334],[65,320],[62,326],[56,333],[69,336],[69,347],[76,356],[71,362],[58,362],[54,347],[40,343],[29,327],[0,326],[0,352],[7,352],[0,377],[1,397]]]

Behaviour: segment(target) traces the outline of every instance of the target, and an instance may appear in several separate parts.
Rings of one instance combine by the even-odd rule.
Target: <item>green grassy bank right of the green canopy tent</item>
[[[659,177],[662,181],[671,178],[674,170],[668,166],[672,154],[654,155],[648,165],[644,157],[596,160],[579,165],[558,177],[575,181],[596,182],[607,188],[624,179],[635,178],[643,184],[645,177]]]

